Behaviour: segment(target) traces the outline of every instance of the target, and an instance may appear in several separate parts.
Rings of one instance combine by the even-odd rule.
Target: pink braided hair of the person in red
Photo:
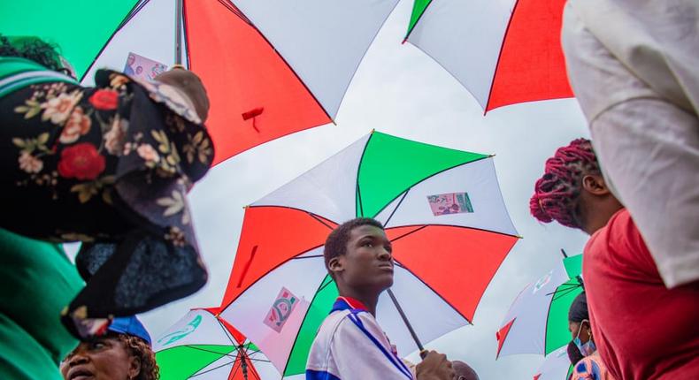
[[[582,178],[600,173],[589,140],[573,140],[567,147],[558,148],[556,154],[546,160],[544,174],[534,185],[534,195],[529,201],[532,216],[543,223],[556,220],[568,227],[581,228],[575,208]]]

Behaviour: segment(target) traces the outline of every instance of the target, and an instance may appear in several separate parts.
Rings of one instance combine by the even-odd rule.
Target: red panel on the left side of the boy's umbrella
[[[298,209],[245,209],[238,251],[221,302],[222,308],[281,263],[325,244],[327,235],[336,224],[324,222],[330,227]]]

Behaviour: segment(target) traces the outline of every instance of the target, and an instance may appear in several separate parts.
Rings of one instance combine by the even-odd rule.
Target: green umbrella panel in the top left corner
[[[35,35],[57,44],[59,53],[80,78],[136,3],[137,0],[2,1],[0,34]]]

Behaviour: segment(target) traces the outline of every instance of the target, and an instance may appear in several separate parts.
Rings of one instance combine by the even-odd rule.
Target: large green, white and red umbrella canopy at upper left
[[[79,77],[124,68],[134,52],[183,62],[204,81],[214,162],[333,121],[357,66],[398,0],[81,0],[3,2],[0,33],[57,42]],[[113,3],[113,4],[112,4]],[[119,4],[119,5],[116,5]],[[85,75],[87,73],[87,75]]]

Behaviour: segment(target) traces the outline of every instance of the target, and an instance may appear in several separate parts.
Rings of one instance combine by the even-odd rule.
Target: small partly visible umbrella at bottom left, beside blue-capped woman
[[[161,380],[261,378],[269,361],[218,312],[191,309],[153,342]]]

